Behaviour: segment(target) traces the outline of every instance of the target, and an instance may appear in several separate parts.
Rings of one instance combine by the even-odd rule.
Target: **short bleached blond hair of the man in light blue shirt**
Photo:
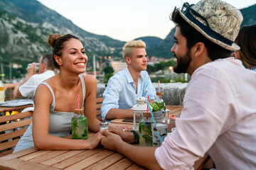
[[[132,57],[134,48],[145,48],[146,43],[142,40],[131,40],[125,43],[123,47],[123,57]]]

